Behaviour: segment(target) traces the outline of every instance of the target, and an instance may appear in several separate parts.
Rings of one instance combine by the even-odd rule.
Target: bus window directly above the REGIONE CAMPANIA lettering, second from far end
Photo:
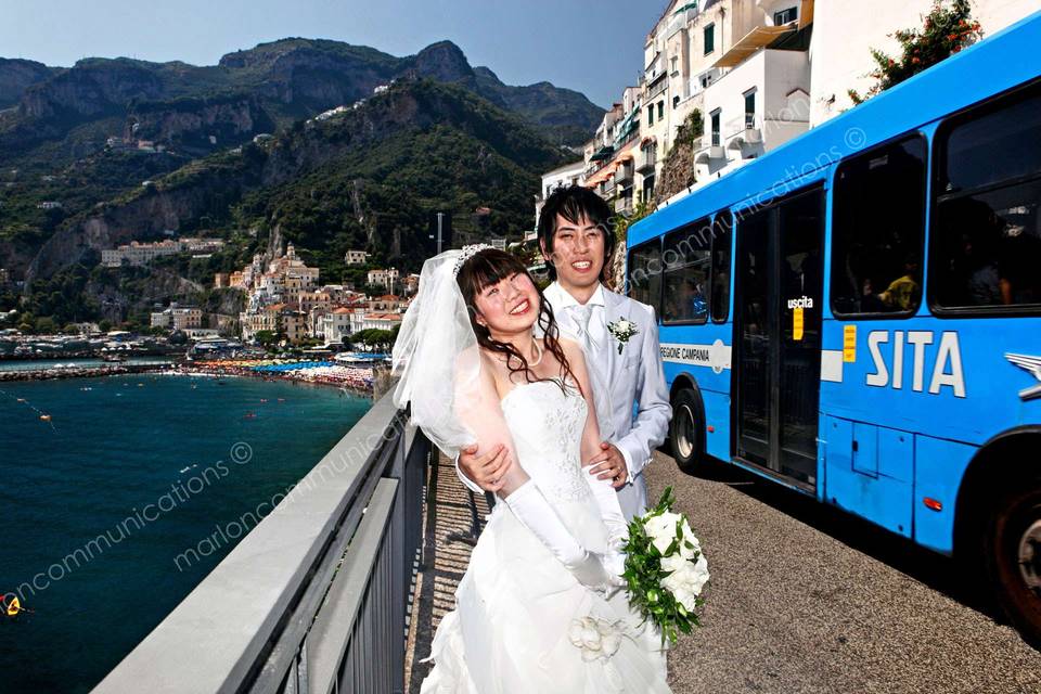
[[[661,321],[704,323],[708,320],[708,270],[711,231],[708,219],[673,231],[665,237],[665,296]]]

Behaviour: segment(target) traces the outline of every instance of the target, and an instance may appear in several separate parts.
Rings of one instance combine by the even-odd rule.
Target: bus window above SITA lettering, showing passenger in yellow
[[[844,160],[835,175],[832,311],[911,316],[922,301],[925,140]]]

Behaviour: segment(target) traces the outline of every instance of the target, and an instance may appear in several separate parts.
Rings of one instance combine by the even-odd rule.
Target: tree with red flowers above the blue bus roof
[[[878,49],[871,49],[877,68],[870,77],[877,80],[864,94],[854,89],[847,93],[854,104],[899,85],[940,61],[968,48],[984,37],[979,22],[973,20],[968,0],[953,0],[948,8],[943,0],[934,0],[933,9],[921,29],[902,29],[890,34],[900,42],[900,56],[890,57]]]

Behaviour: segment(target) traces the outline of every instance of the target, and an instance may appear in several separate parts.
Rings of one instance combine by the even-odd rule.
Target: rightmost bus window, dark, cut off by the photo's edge
[[[1041,89],[944,124],[937,154],[930,303],[1041,309]]]

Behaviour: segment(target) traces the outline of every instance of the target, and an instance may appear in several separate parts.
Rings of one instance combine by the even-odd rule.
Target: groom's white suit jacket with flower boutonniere
[[[553,309],[562,334],[578,334],[573,307],[578,303],[556,282],[543,292]],[[651,461],[654,449],[668,435],[672,407],[661,369],[658,324],[654,309],[628,296],[615,294],[603,286],[588,301],[593,306],[589,334],[595,346],[586,350],[586,361],[595,370],[601,384],[608,385],[609,417],[614,429],[611,442],[618,447],[629,480],[618,489],[618,502],[627,519],[644,512],[647,505],[647,485],[643,468]],[[607,331],[607,323],[626,319],[637,326],[637,333],[622,345]],[[601,419],[605,413],[600,413]],[[457,472],[459,471],[457,466]],[[480,492],[465,475],[463,484]]]

